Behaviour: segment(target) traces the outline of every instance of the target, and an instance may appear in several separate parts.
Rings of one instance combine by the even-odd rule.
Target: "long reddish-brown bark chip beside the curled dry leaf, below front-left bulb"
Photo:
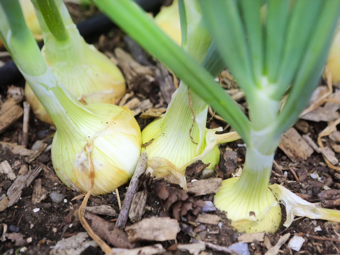
[[[118,227],[115,227],[113,223],[105,221],[90,212],[85,212],[85,219],[88,221],[92,230],[109,244],[118,248],[135,248],[135,244],[129,242],[126,233]]]

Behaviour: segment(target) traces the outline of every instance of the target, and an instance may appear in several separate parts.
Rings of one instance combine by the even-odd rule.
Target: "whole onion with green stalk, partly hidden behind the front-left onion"
[[[85,42],[62,0],[32,0],[43,30],[41,52],[56,78],[83,104],[116,103],[125,94],[125,80],[103,53]],[[30,86],[25,95],[33,112],[53,124]]]

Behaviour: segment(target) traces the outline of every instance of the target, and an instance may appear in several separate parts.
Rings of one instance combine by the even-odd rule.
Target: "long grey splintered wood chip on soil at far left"
[[[43,168],[38,167],[30,170],[27,174],[20,175],[15,179],[11,187],[7,190],[7,196],[10,202],[7,207],[14,205],[19,201],[19,198],[24,187],[28,187],[31,182],[37,177],[37,175],[43,170]]]

